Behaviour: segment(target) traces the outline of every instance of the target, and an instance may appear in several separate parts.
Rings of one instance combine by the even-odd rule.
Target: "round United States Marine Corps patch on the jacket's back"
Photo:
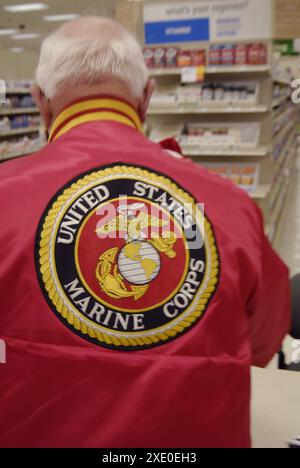
[[[219,277],[213,229],[193,197],[127,165],[82,174],[54,197],[38,229],[36,266],[66,326],[122,351],[190,330]]]

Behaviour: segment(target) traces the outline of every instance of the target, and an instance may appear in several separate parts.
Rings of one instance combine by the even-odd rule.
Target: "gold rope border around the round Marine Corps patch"
[[[189,314],[188,317],[184,317],[177,325],[173,328],[166,330],[165,332],[158,332],[151,335],[145,336],[135,336],[134,338],[130,337],[115,337],[109,333],[100,331],[97,327],[87,324],[84,321],[81,321],[72,310],[64,305],[64,302],[61,298],[61,294],[56,287],[55,281],[51,275],[51,233],[55,222],[57,220],[57,215],[61,211],[61,208],[69,200],[69,198],[77,193],[79,190],[89,185],[92,182],[99,181],[102,179],[101,183],[105,183],[106,178],[111,178],[111,176],[116,175],[134,175],[137,178],[141,177],[146,179],[146,181],[152,181],[158,183],[159,185],[167,186],[171,191],[180,194],[180,197],[183,198],[187,203],[196,206],[195,200],[188,195],[184,190],[180,189],[174,182],[171,182],[164,176],[159,176],[157,174],[151,173],[145,169],[140,169],[137,167],[130,166],[114,166],[97,172],[93,172],[85,176],[83,179],[78,180],[71,187],[67,188],[54,202],[52,208],[48,212],[45,222],[43,224],[42,232],[40,234],[39,242],[39,264],[40,264],[40,273],[43,278],[45,289],[48,293],[48,297],[54,305],[56,311],[63,317],[65,321],[68,322],[75,330],[81,332],[83,335],[89,336],[93,340],[99,341],[101,344],[106,344],[109,346],[116,347],[125,347],[125,348],[138,348],[145,347],[150,345],[155,345],[160,341],[166,342],[171,338],[175,338],[178,334],[183,333],[187,328],[190,328],[203,314],[205,311],[209,300],[211,299],[213,293],[216,291],[218,284],[219,276],[219,256],[216,247],[216,241],[213,234],[212,227],[210,223],[204,218],[204,230],[205,230],[205,242],[208,243],[211,253],[211,274],[208,281],[208,284],[201,295],[200,300],[195,308],[195,310]]]

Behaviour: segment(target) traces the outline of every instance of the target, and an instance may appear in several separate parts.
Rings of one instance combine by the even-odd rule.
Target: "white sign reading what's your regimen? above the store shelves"
[[[172,3],[146,3],[145,30],[146,33],[149,31],[149,35],[158,31],[162,36],[158,25],[168,31],[176,27],[176,23],[183,28],[185,21],[188,26],[191,21],[207,20],[209,40],[212,42],[271,39],[272,6],[272,0],[175,0]]]

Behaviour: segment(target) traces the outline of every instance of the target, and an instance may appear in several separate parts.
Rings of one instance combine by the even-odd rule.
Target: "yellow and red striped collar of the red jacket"
[[[59,114],[51,128],[49,143],[78,125],[105,120],[142,131],[141,119],[128,102],[113,96],[87,96],[74,101]]]

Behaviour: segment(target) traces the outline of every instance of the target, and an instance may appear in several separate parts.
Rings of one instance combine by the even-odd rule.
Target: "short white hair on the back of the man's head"
[[[124,82],[141,98],[148,81],[137,40],[117,22],[83,17],[64,24],[42,44],[36,81],[49,99],[66,87]]]

